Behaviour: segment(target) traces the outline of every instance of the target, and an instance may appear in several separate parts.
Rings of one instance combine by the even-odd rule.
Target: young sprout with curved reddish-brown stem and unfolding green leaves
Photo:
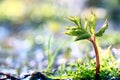
[[[77,16],[70,16],[68,17],[68,19],[75,23],[75,26],[66,27],[67,31],[65,31],[64,33],[70,36],[75,36],[75,41],[87,39],[92,43],[96,56],[96,77],[98,77],[100,73],[100,60],[96,37],[103,36],[103,33],[108,28],[107,20],[104,22],[102,28],[98,32],[96,32],[96,16],[92,12],[90,19],[83,19],[84,24],[82,24],[81,18]]]

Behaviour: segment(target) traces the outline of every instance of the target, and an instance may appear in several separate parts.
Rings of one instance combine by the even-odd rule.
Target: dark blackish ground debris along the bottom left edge
[[[28,79],[29,77],[29,79]],[[25,74],[23,76],[13,76],[11,74],[8,73],[3,73],[0,72],[0,80],[59,80],[59,79],[51,79],[48,78],[47,76],[45,76],[44,74],[42,74],[41,72],[34,72],[32,74]]]

